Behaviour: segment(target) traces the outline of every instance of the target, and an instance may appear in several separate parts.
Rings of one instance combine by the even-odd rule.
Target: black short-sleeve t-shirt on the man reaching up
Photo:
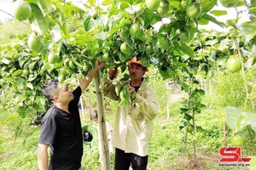
[[[79,116],[80,87],[73,91],[74,99],[68,111],[53,106],[42,119],[39,144],[49,144],[51,156],[49,169],[77,170],[83,156],[82,128]]]

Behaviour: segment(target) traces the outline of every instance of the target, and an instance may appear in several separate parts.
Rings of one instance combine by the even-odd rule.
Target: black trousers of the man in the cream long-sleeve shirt
[[[137,156],[133,153],[125,153],[124,150],[115,149],[114,170],[146,170],[148,156]]]

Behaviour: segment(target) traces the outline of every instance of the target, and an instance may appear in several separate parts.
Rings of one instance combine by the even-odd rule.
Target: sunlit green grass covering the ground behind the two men
[[[223,127],[225,122],[224,109],[217,105],[222,102],[222,100],[218,100],[217,97],[219,96],[216,97],[212,108],[207,107],[200,114],[195,115],[196,125],[201,126],[204,130],[197,132],[195,135],[197,159],[194,161],[193,136],[188,134],[188,144],[184,149],[185,132],[184,129],[179,129],[179,126],[183,125],[183,116],[179,114],[179,108],[183,105],[183,98],[181,98],[183,94],[178,97],[177,94],[166,91],[166,82],[161,82],[160,79],[151,81],[151,83],[159,99],[160,112],[154,119],[154,133],[150,141],[148,170],[229,169],[228,167],[218,167],[218,160],[220,159],[218,150],[224,145]],[[208,103],[211,103],[210,96],[205,98],[208,99]],[[169,119],[167,119],[166,111],[166,101],[168,99],[170,100]],[[106,118],[113,125],[116,102],[107,101]],[[203,99],[203,101],[206,100]],[[85,101],[85,103],[88,104],[88,101]],[[92,105],[95,105],[95,102],[92,103]],[[0,114],[0,118],[0,169],[37,170],[36,150],[40,127],[29,126],[29,118],[31,117],[26,117],[26,119],[20,121],[17,113],[5,111],[4,115]],[[83,125],[91,123],[89,114],[85,116],[85,121],[81,120]],[[227,129],[230,130],[228,127]],[[228,144],[230,144],[230,135],[229,131]],[[247,139],[248,133],[242,132],[241,135],[244,139]],[[248,154],[252,150],[250,146],[250,141],[246,140],[242,147],[242,156],[250,156]],[[113,154],[110,155],[110,158],[113,167]],[[82,167],[84,169],[101,169],[97,145],[91,149],[84,149]]]

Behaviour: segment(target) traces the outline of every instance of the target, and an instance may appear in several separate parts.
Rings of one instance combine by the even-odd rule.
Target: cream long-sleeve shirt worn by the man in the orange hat
[[[101,84],[103,94],[110,99],[119,100],[115,87],[122,84],[127,82],[113,83],[108,78],[104,79]],[[125,153],[147,156],[153,133],[153,119],[158,111],[154,89],[144,79],[132,104],[117,108],[113,126],[113,147],[125,150]]]

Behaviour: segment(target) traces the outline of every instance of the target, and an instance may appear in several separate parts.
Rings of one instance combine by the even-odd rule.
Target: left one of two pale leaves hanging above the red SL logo
[[[241,116],[241,111],[236,107],[228,107],[224,110],[226,116],[226,122],[234,131],[236,130],[236,125],[239,117]]]

